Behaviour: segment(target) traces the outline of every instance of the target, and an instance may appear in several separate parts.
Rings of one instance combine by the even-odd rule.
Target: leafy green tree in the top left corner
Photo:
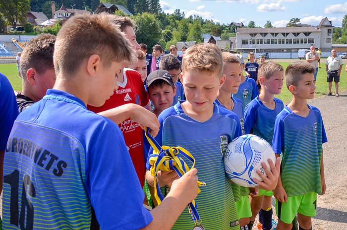
[[[16,28],[17,22],[25,23],[26,13],[30,10],[29,0],[0,0],[0,12]]]

